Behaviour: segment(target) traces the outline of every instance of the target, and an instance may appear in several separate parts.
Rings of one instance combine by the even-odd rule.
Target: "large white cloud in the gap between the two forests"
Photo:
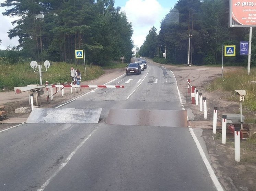
[[[126,13],[128,22],[132,23],[132,40],[140,47],[149,30],[155,26],[160,30],[160,22],[171,8],[163,8],[157,0],[128,0],[121,11]]]

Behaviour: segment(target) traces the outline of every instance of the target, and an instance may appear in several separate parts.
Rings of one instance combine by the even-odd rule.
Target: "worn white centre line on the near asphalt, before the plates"
[[[79,145],[77,148],[75,148],[75,150],[73,152],[71,152],[71,154],[68,156],[68,158],[60,165],[60,167],[53,173],[53,175],[50,176],[50,178],[48,178],[48,180],[46,180],[46,182],[39,188],[37,189],[37,191],[43,191],[47,185],[50,183],[51,180],[53,180],[53,178],[60,172],[60,170],[62,168],[64,168],[68,162],[70,161],[70,159],[72,158],[72,156],[75,154],[75,152],[77,152],[78,149],[80,149],[83,144],[94,134],[94,132],[97,130],[97,128],[95,128],[93,130],[93,132],[88,135]]]

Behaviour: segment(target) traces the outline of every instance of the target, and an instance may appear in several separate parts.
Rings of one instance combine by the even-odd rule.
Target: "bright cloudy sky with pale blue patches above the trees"
[[[0,0],[3,3],[5,0]],[[115,0],[115,7],[120,6],[121,11],[126,13],[128,22],[132,23],[133,28],[133,44],[140,47],[149,30],[152,26],[155,26],[159,32],[160,22],[169,13],[170,9],[174,7],[178,0]],[[8,8],[0,7],[0,49],[5,50],[8,46],[18,45],[18,37],[8,37],[8,31],[13,29],[11,24],[15,18],[3,16],[2,12]]]

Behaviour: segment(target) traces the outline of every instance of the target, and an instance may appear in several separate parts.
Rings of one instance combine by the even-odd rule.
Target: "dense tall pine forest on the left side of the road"
[[[100,66],[132,57],[132,24],[114,0],[5,0],[0,6],[5,7],[3,15],[19,17],[8,36],[20,43],[0,51],[2,62],[74,63],[80,60],[75,50],[85,50],[86,62]]]

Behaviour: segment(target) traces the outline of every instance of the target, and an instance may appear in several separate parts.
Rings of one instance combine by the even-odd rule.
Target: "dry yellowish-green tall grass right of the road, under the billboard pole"
[[[219,77],[211,82],[209,90],[223,89],[232,91],[234,94],[234,90],[245,90],[246,96],[243,105],[250,110],[256,111],[256,83],[250,81],[256,81],[256,68],[252,68],[249,75],[247,75],[247,69],[228,71],[224,73],[223,79]]]

